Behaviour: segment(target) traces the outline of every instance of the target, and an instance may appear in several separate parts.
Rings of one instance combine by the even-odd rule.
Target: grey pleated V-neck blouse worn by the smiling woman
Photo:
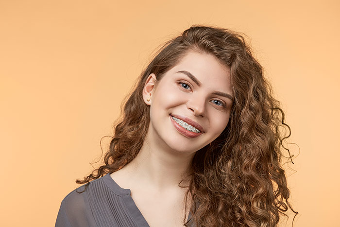
[[[190,217],[191,212],[188,220]],[[149,224],[132,199],[130,189],[121,188],[106,174],[63,199],[55,227],[149,227]]]

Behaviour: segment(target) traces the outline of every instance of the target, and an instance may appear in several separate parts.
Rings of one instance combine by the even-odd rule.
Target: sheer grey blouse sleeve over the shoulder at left
[[[70,192],[61,202],[55,227],[96,227],[86,192]]]

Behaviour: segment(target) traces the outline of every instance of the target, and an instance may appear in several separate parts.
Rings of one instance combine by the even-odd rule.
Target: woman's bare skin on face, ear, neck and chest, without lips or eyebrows
[[[201,86],[178,72],[183,70],[194,75]],[[215,140],[229,122],[232,100],[213,94],[215,91],[233,96],[230,69],[213,55],[194,51],[187,52],[159,81],[152,73],[145,83],[143,99],[150,105],[151,116],[146,140],[136,158],[111,176],[122,188],[131,189],[131,196],[150,225],[154,210],[167,209],[169,216],[181,213],[183,209],[175,207],[184,199],[186,189],[178,184],[187,175],[192,157]],[[174,127],[170,114],[199,123],[204,133],[196,138],[184,136]],[[149,194],[152,201],[147,200]],[[174,213],[169,213],[171,208]],[[147,210],[153,210],[153,215],[150,211],[148,216]]]

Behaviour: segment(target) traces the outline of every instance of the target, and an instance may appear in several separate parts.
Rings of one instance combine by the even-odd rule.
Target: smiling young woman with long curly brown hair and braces
[[[279,105],[241,35],[192,26],[141,73],[56,227],[277,226],[291,209]]]

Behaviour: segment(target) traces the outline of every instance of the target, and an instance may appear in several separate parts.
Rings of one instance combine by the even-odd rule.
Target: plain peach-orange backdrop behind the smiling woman
[[[288,171],[295,226],[339,225],[339,6],[1,0],[0,225],[54,226],[150,53],[200,23],[247,34],[283,104],[300,147]]]

